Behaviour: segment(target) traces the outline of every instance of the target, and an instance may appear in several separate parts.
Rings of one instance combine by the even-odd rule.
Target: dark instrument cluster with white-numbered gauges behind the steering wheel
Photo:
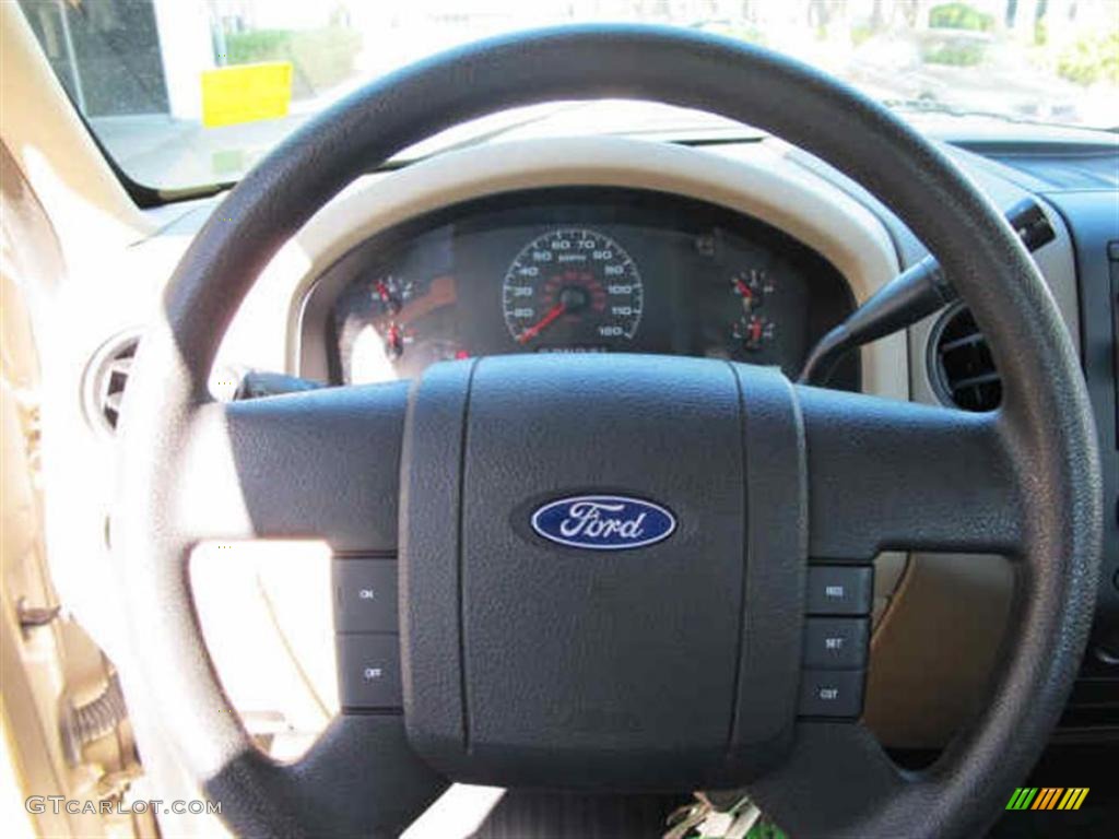
[[[333,384],[511,352],[724,358],[794,377],[853,305],[829,262],[755,218],[666,192],[555,187],[358,244],[312,283],[301,339]],[[834,385],[858,388],[857,359]]]

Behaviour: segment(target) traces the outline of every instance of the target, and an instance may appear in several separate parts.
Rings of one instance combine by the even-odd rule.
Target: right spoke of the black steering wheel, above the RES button
[[[1021,552],[1019,488],[997,413],[811,387],[798,396],[814,559]]]

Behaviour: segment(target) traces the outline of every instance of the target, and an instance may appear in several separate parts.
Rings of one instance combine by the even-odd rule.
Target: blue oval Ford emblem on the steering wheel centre
[[[572,496],[533,513],[533,529],[548,541],[587,550],[628,550],[664,541],[676,518],[660,505],[627,496]]]

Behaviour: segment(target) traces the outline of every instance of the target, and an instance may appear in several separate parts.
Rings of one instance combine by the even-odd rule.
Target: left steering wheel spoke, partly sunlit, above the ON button
[[[196,539],[321,538],[396,549],[407,383],[323,388],[192,411],[176,527]]]

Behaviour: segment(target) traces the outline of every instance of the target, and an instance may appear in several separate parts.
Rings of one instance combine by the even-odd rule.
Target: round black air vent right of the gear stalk
[[[930,377],[941,402],[965,411],[994,411],[1003,400],[1003,379],[971,310],[949,309],[932,329]]]

